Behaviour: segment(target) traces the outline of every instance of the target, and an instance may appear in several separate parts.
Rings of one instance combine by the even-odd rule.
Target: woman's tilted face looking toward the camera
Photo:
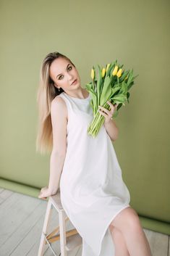
[[[54,59],[50,66],[49,75],[54,80],[54,86],[62,88],[66,92],[80,87],[80,75],[77,69],[63,57]],[[72,85],[75,79],[77,81]]]

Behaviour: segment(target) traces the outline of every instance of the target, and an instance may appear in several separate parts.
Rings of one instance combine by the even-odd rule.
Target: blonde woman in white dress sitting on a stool
[[[61,192],[61,204],[82,236],[82,256],[150,256],[150,247],[130,195],[112,141],[118,128],[111,110],[100,107],[105,117],[98,136],[88,135],[93,120],[90,94],[80,85],[71,60],[54,52],[41,66],[38,88],[39,130],[37,151],[51,150],[45,199]]]

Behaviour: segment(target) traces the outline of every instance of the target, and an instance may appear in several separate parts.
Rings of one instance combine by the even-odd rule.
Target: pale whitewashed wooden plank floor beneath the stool
[[[0,256],[37,256],[47,202],[0,188]],[[48,234],[58,226],[58,215],[52,210]],[[75,228],[70,221],[67,230]],[[153,256],[170,256],[169,236],[143,228]],[[59,241],[51,244],[60,255]],[[81,256],[82,246],[68,256]],[[46,245],[45,256],[53,256]]]

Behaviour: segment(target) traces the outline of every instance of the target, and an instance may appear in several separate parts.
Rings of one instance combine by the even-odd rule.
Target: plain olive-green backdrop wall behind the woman
[[[169,7],[166,0],[0,1],[1,178],[48,185],[50,155],[35,152],[36,93],[46,54],[72,59],[82,87],[92,65],[118,59],[139,74],[116,117],[122,176],[132,207],[168,225]]]

